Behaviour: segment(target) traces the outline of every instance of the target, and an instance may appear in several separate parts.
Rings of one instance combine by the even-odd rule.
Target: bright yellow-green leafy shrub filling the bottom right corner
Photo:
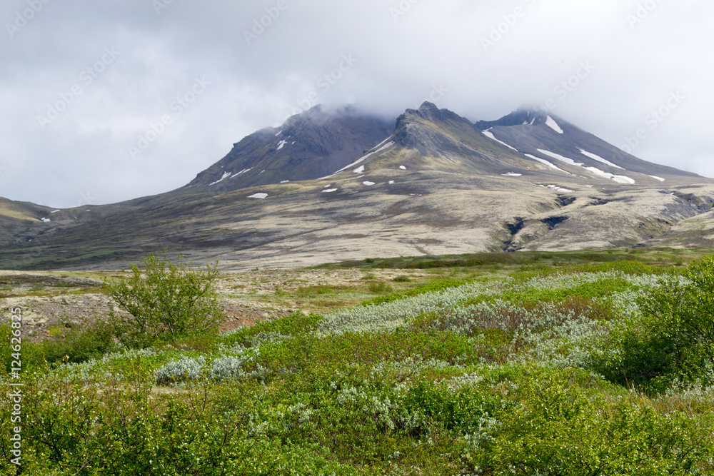
[[[567,373],[535,370],[518,383],[519,405],[476,450],[493,475],[703,475],[710,436],[686,415],[660,415],[626,398],[607,402]]]

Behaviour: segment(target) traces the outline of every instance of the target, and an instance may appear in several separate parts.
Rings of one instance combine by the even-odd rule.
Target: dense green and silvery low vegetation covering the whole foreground
[[[582,258],[370,282],[221,335],[26,344],[24,474],[713,474],[714,258]]]

